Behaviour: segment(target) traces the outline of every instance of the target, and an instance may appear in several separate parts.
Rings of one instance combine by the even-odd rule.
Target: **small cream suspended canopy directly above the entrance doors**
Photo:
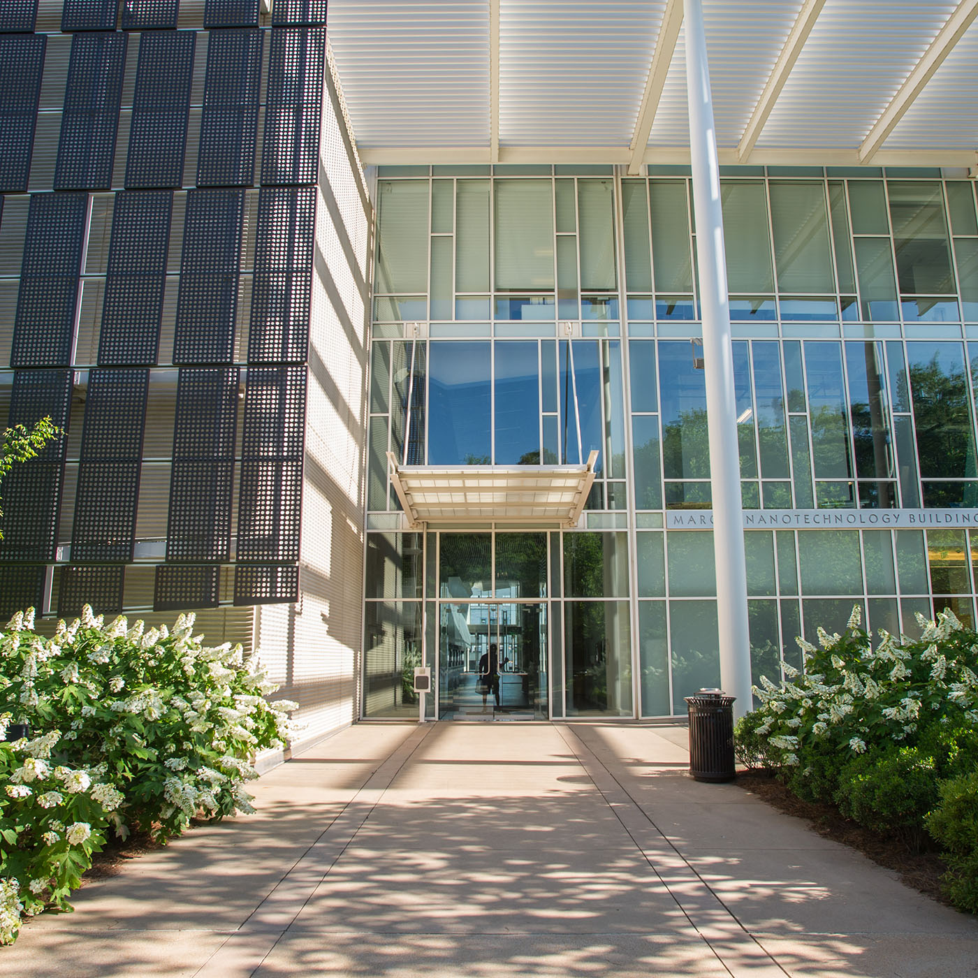
[[[399,466],[390,479],[413,528],[492,522],[535,526],[577,523],[595,481],[598,452],[584,466]]]

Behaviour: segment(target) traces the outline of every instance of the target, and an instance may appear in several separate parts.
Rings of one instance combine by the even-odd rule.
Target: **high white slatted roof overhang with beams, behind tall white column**
[[[975,166],[978,0],[703,0],[725,164]],[[689,160],[682,0],[331,0],[365,163]]]

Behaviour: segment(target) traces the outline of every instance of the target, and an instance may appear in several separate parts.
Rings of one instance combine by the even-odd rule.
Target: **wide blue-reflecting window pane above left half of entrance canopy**
[[[428,465],[488,465],[489,342],[430,344]]]

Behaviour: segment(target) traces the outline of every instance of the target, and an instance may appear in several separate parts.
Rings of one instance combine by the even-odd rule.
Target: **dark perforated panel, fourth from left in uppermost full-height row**
[[[197,182],[254,183],[263,30],[212,30],[207,41]]]

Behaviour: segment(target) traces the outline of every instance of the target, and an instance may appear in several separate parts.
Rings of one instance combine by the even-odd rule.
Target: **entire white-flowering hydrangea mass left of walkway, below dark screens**
[[[33,610],[0,632],[0,943],[23,912],[66,907],[107,831],[163,841],[191,820],[251,812],[255,754],[292,730],[288,700],[240,645],[202,645],[194,616],[169,632],[106,625],[85,607],[46,639]]]

